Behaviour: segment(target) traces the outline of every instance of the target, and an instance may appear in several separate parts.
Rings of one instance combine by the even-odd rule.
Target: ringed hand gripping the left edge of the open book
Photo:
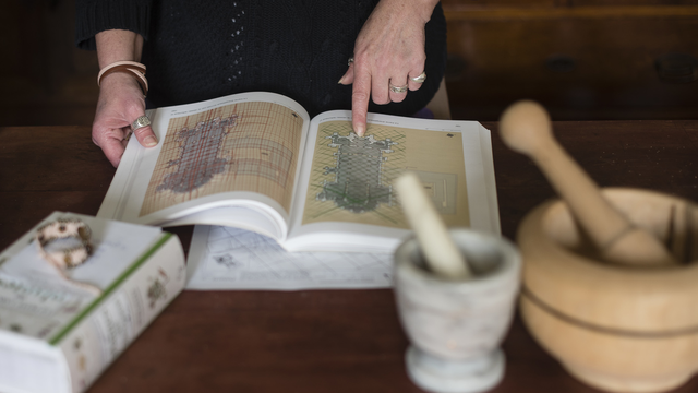
[[[92,124],[92,141],[101,147],[107,159],[115,167],[121,162],[131,134],[131,123],[144,114],[145,99],[133,75],[115,72],[101,80],[97,112]],[[133,133],[141,145],[145,147],[157,145],[157,139],[149,126],[140,128]]]

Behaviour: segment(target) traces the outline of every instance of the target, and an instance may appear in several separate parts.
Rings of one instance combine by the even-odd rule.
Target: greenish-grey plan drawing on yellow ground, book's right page
[[[422,180],[449,225],[468,225],[462,135],[369,124],[365,136],[349,121],[318,126],[303,224],[346,222],[409,228],[393,181],[405,170]]]

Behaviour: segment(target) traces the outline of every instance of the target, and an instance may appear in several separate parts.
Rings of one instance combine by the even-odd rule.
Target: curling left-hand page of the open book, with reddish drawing
[[[166,225],[246,201],[288,216],[309,122],[297,103],[239,94],[159,108],[152,122],[159,144],[130,141],[98,216]]]

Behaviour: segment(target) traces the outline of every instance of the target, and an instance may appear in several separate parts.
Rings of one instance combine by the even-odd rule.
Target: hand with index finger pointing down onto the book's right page
[[[389,90],[408,86],[419,90],[411,81],[424,71],[424,25],[437,1],[382,0],[364,23],[354,44],[353,62],[339,83],[351,84],[352,126],[362,136],[366,130],[369,99],[376,104],[400,103],[407,92]]]

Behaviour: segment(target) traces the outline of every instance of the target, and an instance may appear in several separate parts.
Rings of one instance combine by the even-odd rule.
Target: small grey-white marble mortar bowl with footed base
[[[447,279],[431,273],[416,238],[395,252],[395,295],[411,342],[410,379],[432,392],[483,392],[504,374],[504,338],[516,306],[521,258],[506,239],[450,229],[474,276]]]

